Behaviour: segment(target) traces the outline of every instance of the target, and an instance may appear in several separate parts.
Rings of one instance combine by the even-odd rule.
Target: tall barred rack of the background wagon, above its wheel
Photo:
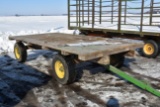
[[[158,0],[68,0],[68,28],[87,31],[160,36],[160,32],[143,31],[144,26],[160,26],[160,2]],[[137,21],[128,23],[127,20]],[[148,23],[144,23],[147,19]],[[96,23],[117,23],[117,29],[97,29]],[[85,24],[92,25],[84,28]],[[139,31],[122,30],[123,25],[136,26]]]

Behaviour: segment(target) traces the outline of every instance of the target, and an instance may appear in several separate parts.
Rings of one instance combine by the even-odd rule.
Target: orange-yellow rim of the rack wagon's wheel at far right
[[[152,55],[155,51],[153,44],[151,44],[151,43],[145,44],[144,47],[143,47],[143,51],[147,55]]]

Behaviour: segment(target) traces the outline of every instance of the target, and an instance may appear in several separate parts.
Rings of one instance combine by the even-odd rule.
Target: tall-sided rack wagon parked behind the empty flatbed
[[[159,0],[68,0],[68,22],[85,35],[142,39],[146,57],[160,53]]]

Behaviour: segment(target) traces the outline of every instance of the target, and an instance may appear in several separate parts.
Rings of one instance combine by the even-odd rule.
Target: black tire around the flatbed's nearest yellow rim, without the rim
[[[64,78],[59,78],[56,74],[56,69],[55,69],[56,61],[60,61],[63,64],[65,72]],[[50,74],[53,78],[55,78],[59,83],[63,85],[71,84],[76,79],[75,66],[76,64],[72,56],[55,55],[52,59],[51,63],[52,70],[50,71]]]

